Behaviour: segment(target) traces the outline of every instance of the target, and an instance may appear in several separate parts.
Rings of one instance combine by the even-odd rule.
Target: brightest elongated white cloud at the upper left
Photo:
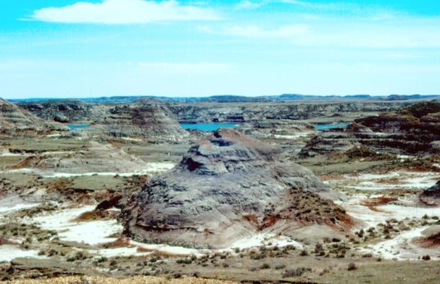
[[[32,19],[56,23],[130,24],[160,21],[213,21],[214,10],[177,1],[104,0],[102,3],[77,2],[61,8],[34,11]]]

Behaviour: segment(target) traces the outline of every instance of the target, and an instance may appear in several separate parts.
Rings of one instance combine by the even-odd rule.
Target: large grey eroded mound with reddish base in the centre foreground
[[[302,198],[315,198],[331,212],[338,206],[319,196],[329,193],[309,169],[285,159],[277,147],[220,129],[131,196],[122,217],[126,233],[139,241],[221,248],[261,230],[292,233],[324,224],[344,231],[347,220],[338,215],[342,210],[339,217],[318,216],[314,212],[325,206],[297,207]]]

